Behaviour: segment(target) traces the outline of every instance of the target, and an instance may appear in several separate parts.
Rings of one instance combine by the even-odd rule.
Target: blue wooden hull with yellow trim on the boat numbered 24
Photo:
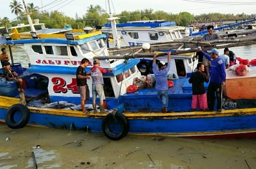
[[[0,96],[0,121],[5,122],[7,109],[19,99]],[[28,125],[89,129],[102,132],[102,122],[108,113],[28,107]],[[131,113],[124,112],[131,134],[203,138],[256,138],[256,108],[216,112]]]

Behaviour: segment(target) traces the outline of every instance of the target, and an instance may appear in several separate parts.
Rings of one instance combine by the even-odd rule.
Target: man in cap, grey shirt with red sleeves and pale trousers
[[[108,73],[112,72],[112,69],[103,69],[100,67],[100,62],[98,59],[93,60],[93,67],[90,69],[90,74],[93,80],[93,85],[92,85],[92,93],[93,93],[93,112],[97,113],[96,109],[96,97],[98,95],[99,97],[99,109],[100,113],[105,113],[104,110],[104,99],[105,99],[105,94],[103,90],[104,82],[103,82],[103,75],[102,73]]]

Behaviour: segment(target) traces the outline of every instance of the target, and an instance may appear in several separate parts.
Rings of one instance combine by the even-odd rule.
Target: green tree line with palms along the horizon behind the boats
[[[10,2],[10,10],[16,15],[15,20],[10,20],[7,17],[0,18],[0,26],[11,27],[17,26],[18,23],[28,24],[26,13],[22,7],[23,5],[17,0]],[[90,5],[85,9],[85,14],[75,18],[71,18],[62,12],[57,10],[39,11],[38,6],[34,6],[33,3],[27,4],[27,10],[30,12],[30,16],[33,19],[39,19],[40,23],[45,23],[48,28],[63,28],[65,25],[71,25],[72,28],[82,29],[86,26],[95,27],[97,25],[103,25],[108,22],[109,14],[103,10],[100,5]],[[254,19],[255,15],[242,14],[221,14],[221,13],[208,13],[201,15],[192,15],[189,12],[180,12],[179,14],[172,14],[164,12],[163,10],[153,11],[153,9],[135,10],[135,11],[122,11],[120,14],[113,15],[119,17],[117,23],[126,23],[127,21],[136,20],[169,20],[175,21],[177,26],[189,26],[191,24],[198,24],[204,22],[215,22],[220,20],[245,20]],[[24,28],[27,29],[27,28]],[[24,30],[26,31],[26,30]]]

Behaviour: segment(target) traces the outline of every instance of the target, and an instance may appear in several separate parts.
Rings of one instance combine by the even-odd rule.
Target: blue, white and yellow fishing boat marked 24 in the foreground
[[[32,31],[18,31],[25,26],[30,26]],[[33,26],[40,26],[41,29],[35,30]],[[168,90],[168,112],[161,113],[162,105],[153,85],[154,75],[142,76],[136,67],[140,61],[138,58],[152,56],[151,53],[137,51],[128,55],[110,56],[103,40],[105,35],[99,30],[87,33],[71,28],[45,29],[44,24],[32,21],[29,25],[10,29],[12,33],[5,33],[1,37],[5,39],[4,43],[21,47],[30,59],[30,67],[27,69],[22,68],[21,64],[12,65],[26,82],[25,93],[12,91],[15,83],[10,84],[4,77],[0,79],[0,121],[10,128],[32,125],[86,129],[103,132],[112,140],[124,138],[127,133],[173,137],[256,137],[254,105],[252,108],[227,106],[219,114],[191,111],[192,86],[188,77],[181,78],[175,72],[175,62],[171,63],[173,72],[166,77],[174,83]],[[166,56],[166,53],[161,52],[159,55]],[[76,67],[82,58],[89,59],[91,63],[97,58],[101,67],[113,69],[103,75],[108,113],[93,113],[89,110],[90,113],[86,114],[74,108],[80,102],[76,87]],[[85,68],[87,72],[92,67],[91,63]],[[227,72],[227,83],[232,86],[231,81],[236,77],[230,78],[229,83],[229,76],[232,75],[229,74]],[[248,72],[245,77],[251,79],[250,82],[255,80],[252,74],[255,71]],[[92,82],[88,80],[87,84],[92,91]],[[127,87],[131,85],[137,87],[136,91],[127,92]],[[245,85],[240,87],[255,88],[254,83]],[[207,86],[205,83],[206,89]],[[230,92],[227,91],[226,98],[232,99],[229,96]],[[252,98],[256,96],[252,94]],[[244,97],[241,95],[232,102],[240,99]],[[87,103],[90,104],[91,99]]]

